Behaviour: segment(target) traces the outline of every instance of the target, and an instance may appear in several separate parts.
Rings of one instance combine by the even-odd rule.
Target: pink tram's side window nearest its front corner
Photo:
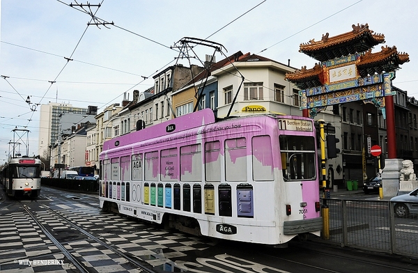
[[[270,136],[252,138],[252,169],[255,181],[274,180],[272,141]]]

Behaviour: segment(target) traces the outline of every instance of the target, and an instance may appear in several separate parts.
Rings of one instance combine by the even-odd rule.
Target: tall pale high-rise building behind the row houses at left
[[[95,122],[94,116],[97,114],[98,107],[89,106],[87,108],[73,107],[72,104],[49,102],[40,105],[39,139],[38,151],[41,157],[48,157],[48,147],[59,139],[59,134],[63,130],[70,129],[73,125],[85,123],[86,121]],[[65,113],[73,118],[61,119]]]

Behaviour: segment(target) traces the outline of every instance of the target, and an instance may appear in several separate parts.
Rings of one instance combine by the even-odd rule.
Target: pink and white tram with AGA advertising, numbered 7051
[[[322,228],[314,120],[210,109],[104,142],[100,208],[197,235],[285,244]]]

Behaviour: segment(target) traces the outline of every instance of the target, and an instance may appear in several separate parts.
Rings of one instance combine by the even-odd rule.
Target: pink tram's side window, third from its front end
[[[205,176],[206,181],[221,180],[221,143],[211,141],[205,143]]]

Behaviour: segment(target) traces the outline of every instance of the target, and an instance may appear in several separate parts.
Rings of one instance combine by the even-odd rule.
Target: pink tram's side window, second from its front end
[[[245,137],[225,141],[226,181],[247,181],[247,141]]]

